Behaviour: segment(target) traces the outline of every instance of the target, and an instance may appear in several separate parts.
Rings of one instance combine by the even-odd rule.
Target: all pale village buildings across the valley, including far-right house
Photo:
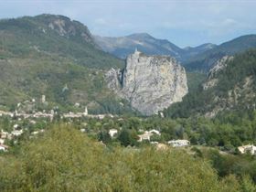
[[[8,151],[8,143],[10,141],[13,141],[14,144],[16,144],[17,139],[21,137],[24,133],[29,133],[30,138],[35,137],[37,134],[41,134],[45,132],[45,127],[40,127],[39,129],[36,128],[33,131],[29,130],[27,126],[23,126],[22,124],[24,121],[27,121],[28,124],[30,124],[30,127],[33,127],[33,125],[36,125],[38,122],[45,123],[45,126],[48,123],[52,123],[54,118],[59,116],[60,120],[65,120],[66,123],[73,123],[74,120],[89,120],[89,119],[95,119],[96,121],[101,121],[104,118],[114,119],[118,118],[117,115],[112,114],[89,114],[87,106],[84,107],[84,112],[67,112],[67,113],[60,113],[55,111],[55,109],[51,109],[48,112],[46,110],[43,110],[42,112],[25,112],[21,110],[22,106],[29,106],[36,103],[35,99],[32,99],[31,101],[24,101],[23,103],[19,102],[16,105],[15,112],[5,112],[0,111],[0,118],[9,118],[11,122],[13,122],[13,125],[10,129],[5,129],[5,127],[1,128],[0,132],[0,151]],[[40,103],[48,105],[48,101],[46,101],[46,96],[42,95]],[[80,107],[80,103],[74,104],[76,107]],[[123,120],[123,118],[118,118],[118,121]],[[83,123],[83,127],[80,128],[81,133],[89,133],[91,132],[92,135],[100,133],[97,129],[91,129],[90,132],[87,130],[87,123]],[[115,140],[116,137],[122,132],[122,127],[119,129],[109,128],[107,129],[108,135],[111,137],[112,140]],[[159,139],[155,140],[155,137],[161,137],[161,130],[160,129],[151,129],[151,130],[143,130],[139,129],[136,133],[136,142],[139,143],[147,143],[155,145],[157,149],[167,149],[169,146],[171,147],[189,147],[191,146],[190,141],[187,139],[172,139],[167,141],[159,141]],[[102,141],[100,141],[102,142]],[[241,145],[238,148],[238,151],[240,154],[256,154],[256,146],[253,144],[246,144]]]

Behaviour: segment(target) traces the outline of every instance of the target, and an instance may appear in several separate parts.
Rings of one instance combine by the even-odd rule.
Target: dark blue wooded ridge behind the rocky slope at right
[[[214,63],[226,55],[241,53],[250,48],[256,48],[256,35],[237,37],[219,46],[204,51],[185,60],[184,65],[189,70],[208,71]]]

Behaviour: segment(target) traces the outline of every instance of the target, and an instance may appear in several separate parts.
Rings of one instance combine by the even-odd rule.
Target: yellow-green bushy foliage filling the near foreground
[[[67,126],[0,158],[1,191],[248,191],[185,151],[108,148]],[[245,189],[245,190],[244,190]]]

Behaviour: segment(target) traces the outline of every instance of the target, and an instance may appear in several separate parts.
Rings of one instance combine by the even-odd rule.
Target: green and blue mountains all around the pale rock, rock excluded
[[[223,109],[242,109],[241,106],[254,103],[250,90],[254,91],[255,87],[255,51],[248,49],[256,48],[256,35],[238,37],[220,45],[178,48],[168,40],[145,33],[127,37],[93,36],[79,21],[44,14],[0,20],[0,108],[15,109],[18,102],[39,101],[46,95],[48,109],[80,111],[88,106],[89,112],[95,113],[135,112],[129,101],[108,89],[105,80],[109,69],[125,69],[123,59],[135,48],[148,55],[172,56],[187,69],[189,92],[184,101],[165,112],[167,116],[179,116],[184,112],[182,109],[187,109],[187,114],[210,112],[209,108],[223,106],[223,102],[235,106]],[[208,91],[202,90],[205,74],[227,56],[234,59],[214,75],[219,83]],[[249,80],[246,90],[237,92],[246,80]],[[240,98],[231,100],[240,104],[229,102],[225,96],[229,91]],[[252,95],[249,100],[248,95]],[[80,107],[75,107],[76,103]]]

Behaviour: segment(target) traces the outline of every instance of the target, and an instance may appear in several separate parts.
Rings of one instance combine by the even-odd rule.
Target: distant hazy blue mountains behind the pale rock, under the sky
[[[96,43],[106,52],[125,59],[135,48],[149,55],[170,55],[181,62],[188,70],[208,71],[213,64],[225,55],[240,53],[256,48],[256,35],[237,37],[220,45],[206,43],[195,48],[179,48],[166,39],[157,39],[146,33],[126,37],[94,36]]]

